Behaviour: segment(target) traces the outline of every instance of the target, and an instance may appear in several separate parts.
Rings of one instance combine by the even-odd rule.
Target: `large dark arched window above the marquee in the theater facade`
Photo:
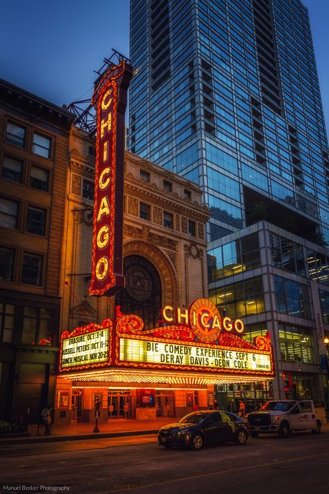
[[[126,288],[115,296],[115,305],[124,314],[136,314],[146,329],[158,326],[161,309],[161,281],[152,263],[141,256],[124,258]]]

